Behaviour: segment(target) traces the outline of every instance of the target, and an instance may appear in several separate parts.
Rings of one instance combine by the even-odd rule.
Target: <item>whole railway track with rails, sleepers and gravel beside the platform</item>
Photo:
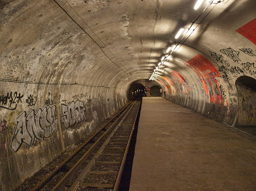
[[[140,104],[129,102],[32,191],[118,190]]]

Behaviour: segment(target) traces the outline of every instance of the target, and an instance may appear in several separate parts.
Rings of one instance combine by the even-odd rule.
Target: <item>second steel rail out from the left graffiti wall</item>
[[[135,103],[135,102],[134,102]],[[134,104],[133,103],[133,104]],[[130,104],[128,107],[126,107],[126,110],[130,110],[133,106],[133,104]],[[55,191],[55,190],[60,190],[64,185],[64,182],[66,182],[66,180],[69,178],[70,174],[72,174],[74,172],[74,170],[76,169],[76,167],[78,167],[81,162],[83,161],[84,158],[86,158],[88,155],[90,155],[90,153],[93,151],[93,149],[98,145],[98,143],[100,142],[100,140],[110,131],[110,129],[116,124],[116,122],[123,117],[123,114],[126,112],[126,110],[115,120],[115,122],[108,128],[108,130],[106,130],[104,132],[104,134],[102,134],[100,136],[100,138],[98,138],[98,140],[88,149],[88,151],[86,151],[86,153],[76,162],[76,164],[64,175],[64,177],[62,177],[62,179],[60,179],[60,181],[52,188],[51,191]],[[128,111],[129,112],[129,111]],[[127,115],[127,113],[126,113]],[[122,120],[121,120],[122,121]]]

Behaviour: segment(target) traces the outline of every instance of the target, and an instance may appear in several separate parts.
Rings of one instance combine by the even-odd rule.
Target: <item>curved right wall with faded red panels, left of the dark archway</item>
[[[250,61],[241,61],[237,66],[219,65],[217,69],[217,62],[214,65],[198,54],[185,63],[186,71],[174,70],[159,81],[166,90],[167,99],[234,125],[238,112],[234,80],[240,75],[254,76],[253,67],[250,67],[254,65],[253,58],[246,59]]]

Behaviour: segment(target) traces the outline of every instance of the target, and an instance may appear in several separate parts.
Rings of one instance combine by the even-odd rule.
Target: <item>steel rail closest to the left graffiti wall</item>
[[[46,177],[44,177],[44,179],[42,179],[42,181],[40,181],[31,191],[39,191],[42,187],[44,187],[46,183],[48,183],[48,181],[50,181],[50,179],[52,179],[66,163],[72,160],[94,137],[96,137],[104,128],[106,128],[106,126],[110,124],[112,120],[116,118],[116,116],[118,116],[121,112],[123,112],[125,108],[129,106],[129,104],[132,101],[126,104],[126,106],[124,106],[124,108],[120,112],[118,112],[113,118],[111,118],[102,128],[100,128],[97,132],[95,132],[88,140],[86,140],[86,142],[84,142],[79,148],[77,148],[68,158],[62,161],[62,163],[60,163],[60,165],[58,165],[52,172],[46,175]]]

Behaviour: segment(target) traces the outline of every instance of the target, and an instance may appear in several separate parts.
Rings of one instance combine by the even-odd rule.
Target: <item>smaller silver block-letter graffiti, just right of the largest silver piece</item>
[[[69,102],[68,105],[61,104],[62,122],[66,128],[69,126],[86,120],[84,102],[76,100]]]

